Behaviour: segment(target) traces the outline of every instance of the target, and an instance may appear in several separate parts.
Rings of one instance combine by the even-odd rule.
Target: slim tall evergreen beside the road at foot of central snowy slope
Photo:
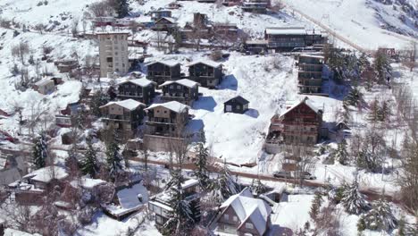
[[[197,153],[195,175],[202,189],[207,190],[211,181],[209,178],[209,170],[207,169],[207,158],[209,157],[209,152],[207,147],[204,147],[203,143],[199,143],[195,151]]]

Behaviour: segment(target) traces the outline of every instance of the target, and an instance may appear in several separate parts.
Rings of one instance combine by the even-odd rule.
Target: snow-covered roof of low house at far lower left
[[[52,180],[63,180],[68,177],[67,171],[60,166],[46,166],[23,176],[23,179],[48,183]]]

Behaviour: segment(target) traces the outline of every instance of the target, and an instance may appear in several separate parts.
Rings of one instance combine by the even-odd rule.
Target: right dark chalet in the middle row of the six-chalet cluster
[[[193,105],[199,98],[199,84],[193,80],[166,81],[159,88],[163,89],[161,98],[164,102],[178,101],[184,105]]]

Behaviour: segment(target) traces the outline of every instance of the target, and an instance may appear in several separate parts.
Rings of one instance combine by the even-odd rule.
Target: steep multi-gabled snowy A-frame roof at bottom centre
[[[260,235],[266,232],[268,218],[272,214],[272,207],[267,205],[262,199],[253,198],[253,195],[247,188],[231,196],[222,204],[221,215],[229,207],[232,207],[238,216],[239,222],[241,222],[238,229],[245,226],[249,219]]]

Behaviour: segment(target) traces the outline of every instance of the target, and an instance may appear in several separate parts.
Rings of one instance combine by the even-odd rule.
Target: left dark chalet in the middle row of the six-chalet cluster
[[[151,104],[155,97],[155,85],[154,81],[146,79],[125,80],[117,84],[118,97]]]

